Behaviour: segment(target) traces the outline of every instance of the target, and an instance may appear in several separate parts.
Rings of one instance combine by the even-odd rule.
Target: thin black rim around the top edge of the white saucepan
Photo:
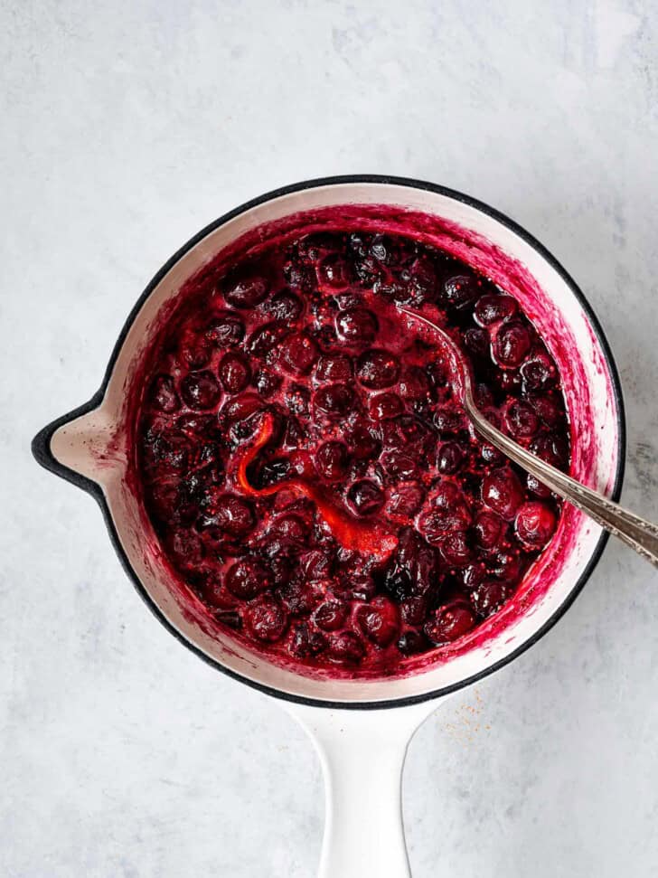
[[[455,189],[450,189],[447,186],[428,183],[427,181],[417,180],[412,177],[399,177],[378,174],[334,175],[329,177],[319,177],[311,180],[305,180],[300,183],[282,186],[268,193],[259,195],[257,198],[253,198],[248,202],[240,204],[239,207],[236,207],[233,210],[224,213],[219,219],[214,220],[213,222],[205,226],[201,231],[198,231],[189,241],[183,244],[183,247],[181,247],[180,250],[177,250],[174,253],[174,256],[172,256],[164,263],[163,267],[155,274],[153,279],[150,280],[150,282],[146,285],[144,292],[137,299],[135,306],[132,308],[129,315],[127,316],[126,322],[118,335],[118,340],[114,345],[112,354],[109,357],[108,366],[105,370],[105,374],[103,376],[99,391],[96,392],[88,402],[83,403],[77,409],[69,411],[67,414],[62,415],[60,418],[53,420],[50,424],[40,430],[32,441],[32,452],[34,458],[39,464],[41,464],[42,467],[50,470],[56,476],[59,476],[66,481],[71,482],[71,484],[82,488],[84,491],[87,491],[91,496],[94,497],[94,499],[100,506],[103,518],[105,519],[105,524],[108,528],[110,539],[112,541],[112,544],[114,545],[115,551],[118,554],[119,561],[121,562],[124,570],[127,572],[128,577],[133,582],[133,585],[135,586],[138,594],[145,601],[148,609],[151,610],[155,617],[164,625],[165,628],[169,630],[171,634],[174,635],[174,637],[176,637],[177,640],[179,640],[183,644],[183,646],[191,649],[193,653],[202,658],[202,660],[208,665],[221,671],[223,674],[226,674],[233,679],[238,680],[240,683],[246,684],[253,689],[258,689],[260,692],[263,692],[265,694],[272,695],[276,698],[281,698],[287,702],[306,704],[312,707],[324,707],[333,710],[383,710],[386,708],[405,707],[409,704],[416,704],[429,701],[431,699],[438,699],[444,695],[456,692],[459,689],[463,689],[466,686],[475,684],[480,680],[483,680],[484,677],[490,674],[494,674],[495,671],[498,671],[502,667],[508,665],[515,658],[521,656],[522,653],[524,653],[527,649],[533,647],[541,639],[541,637],[544,637],[544,635],[550,631],[550,628],[553,628],[553,626],[559,621],[559,619],[562,618],[562,616],[567,612],[569,607],[573,604],[574,600],[578,597],[578,594],[583,590],[587,580],[592,575],[592,572],[596,568],[597,563],[601,558],[601,554],[606,547],[609,534],[606,531],[601,533],[594,548],[594,551],[590,555],[585,570],[581,573],[578,581],[576,581],[573,588],[570,590],[569,595],[559,605],[559,608],[556,609],[553,615],[549,619],[547,619],[547,621],[537,631],[535,631],[531,635],[531,637],[525,640],[519,647],[514,649],[508,656],[504,656],[499,661],[494,662],[493,665],[488,666],[481,671],[478,671],[474,675],[466,677],[464,680],[461,680],[458,683],[443,686],[440,689],[434,689],[426,693],[403,696],[400,698],[391,699],[390,701],[334,702],[320,698],[310,698],[304,695],[290,694],[273,686],[258,683],[258,681],[256,680],[250,680],[249,677],[243,676],[238,672],[221,665],[220,662],[216,661],[211,656],[206,655],[202,651],[202,649],[196,647],[191,641],[184,637],[183,634],[176,628],[174,628],[174,626],[164,616],[162,610],[159,609],[159,607],[155,604],[155,601],[151,599],[144,585],[142,584],[142,581],[137,576],[136,571],[134,570],[132,564],[127,557],[127,553],[124,551],[118,538],[114,519],[109,511],[108,503],[105,499],[102,488],[97,482],[93,481],[92,479],[81,476],[80,473],[77,473],[71,470],[69,467],[65,467],[63,464],[61,464],[61,462],[54,457],[51,448],[51,439],[56,430],[59,430],[61,426],[69,423],[71,420],[76,420],[82,415],[88,414],[90,411],[99,408],[100,404],[105,398],[105,394],[108,389],[108,383],[110,381],[111,375],[114,371],[114,367],[118,359],[118,354],[124,345],[128,331],[133,325],[137,314],[140,312],[142,306],[146,302],[146,299],[151,295],[151,293],[154,291],[160,281],[164,279],[165,275],[171,269],[174,268],[174,265],[183,258],[188,250],[191,250],[196,244],[199,243],[199,241],[202,241],[202,239],[210,234],[211,231],[215,231],[221,225],[229,222],[236,216],[239,216],[240,213],[247,212],[252,208],[257,207],[259,204],[272,201],[283,195],[301,192],[305,189],[316,189],[323,186],[333,186],[341,184],[381,184],[403,186],[410,189],[421,189],[439,195],[444,195],[448,198],[453,199],[454,201],[464,203],[469,207],[475,208],[475,210],[490,216],[492,219],[506,226],[510,231],[516,234],[519,238],[521,238],[522,241],[524,241],[533,250],[535,250],[540,255],[540,257],[548,262],[550,267],[559,274],[559,277],[569,287],[569,289],[578,299],[579,304],[583,308],[583,311],[587,316],[589,326],[591,326],[594,335],[596,335],[597,343],[598,345],[600,345],[601,351],[606,360],[608,371],[610,373],[612,392],[616,405],[618,448],[615,482],[610,496],[611,499],[615,501],[618,500],[619,496],[621,495],[621,489],[625,473],[626,427],[624,397],[615,358],[607,341],[606,334],[604,333],[603,327],[599,323],[599,320],[593,308],[587,301],[585,294],[578,287],[575,280],[571,278],[567,270],[560,265],[559,261],[556,260],[554,256],[552,256],[549,250],[547,250],[543,246],[543,244],[540,243],[540,241],[537,241],[537,239],[534,238],[530,234],[530,232],[526,231],[524,228],[522,228],[521,225],[519,225],[517,222],[514,222],[503,212],[500,212],[495,208],[490,207],[488,204],[485,204],[484,202],[481,202],[470,195],[457,192]]]

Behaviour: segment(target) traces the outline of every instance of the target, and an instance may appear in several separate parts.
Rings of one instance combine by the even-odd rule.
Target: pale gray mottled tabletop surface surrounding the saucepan
[[[312,875],[310,743],[155,622],[98,508],[29,440],[97,389],[204,224],[305,177],[418,176],[509,213],[578,279],[624,382],[625,500],[658,518],[652,3],[0,6],[0,873]],[[549,636],[425,723],[415,878],[658,873],[657,585],[610,545]]]

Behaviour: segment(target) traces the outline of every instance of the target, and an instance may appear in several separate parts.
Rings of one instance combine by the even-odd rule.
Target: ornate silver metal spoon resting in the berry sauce
[[[441,340],[449,346],[462,377],[463,386],[463,402],[469,418],[473,421],[475,430],[477,430],[484,439],[491,442],[495,448],[502,451],[504,455],[518,464],[520,467],[531,473],[532,476],[540,479],[545,486],[549,487],[558,496],[569,503],[576,506],[577,509],[593,518],[601,527],[605,527],[606,531],[619,537],[626,545],[629,545],[639,555],[642,555],[646,561],[651,562],[654,567],[658,567],[658,525],[647,522],[639,515],[622,508],[622,506],[608,500],[607,497],[598,494],[591,488],[581,485],[576,479],[566,476],[559,469],[551,467],[544,460],[531,454],[521,445],[506,436],[501,430],[497,430],[492,423],[484,417],[475,405],[473,397],[473,383],[468,363],[459,347],[447,333],[428,320],[427,317],[410,311],[409,308],[399,307],[400,311],[415,320],[426,324],[441,336]]]

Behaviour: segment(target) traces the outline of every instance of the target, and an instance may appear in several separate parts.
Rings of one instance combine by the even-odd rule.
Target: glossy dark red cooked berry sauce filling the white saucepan
[[[569,465],[559,373],[514,298],[403,236],[314,233],[218,269],[164,329],[138,466],[164,552],[209,616],[270,656],[393,674],[509,600],[560,506],[477,437],[478,404]]]

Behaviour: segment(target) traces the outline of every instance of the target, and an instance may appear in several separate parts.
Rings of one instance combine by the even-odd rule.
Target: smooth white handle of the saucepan
[[[319,878],[406,878],[402,767],[413,733],[437,702],[390,710],[290,705],[315,743],[326,813]]]

